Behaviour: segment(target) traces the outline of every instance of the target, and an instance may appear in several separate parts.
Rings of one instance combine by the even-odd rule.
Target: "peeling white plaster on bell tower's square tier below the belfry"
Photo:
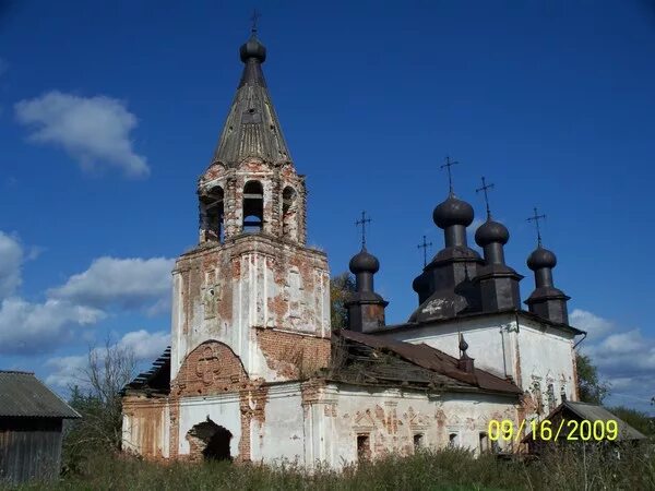
[[[257,241],[257,237],[253,240]],[[205,319],[201,295],[191,306],[186,334],[182,333],[186,319],[181,304],[183,295],[189,295],[189,288],[184,285],[183,276],[179,272],[174,273],[171,379],[177,376],[189,352],[200,344],[214,339],[233,349],[251,378],[283,381],[286,379],[269,368],[257,344],[253,326],[277,327],[323,337],[330,335],[330,277],[326,270],[314,267],[310,273],[313,275],[313,287],[308,288],[291,266],[286,268],[284,284],[278,285],[273,270],[273,261],[277,260],[262,251],[241,254],[234,261],[239,261],[239,278],[221,277],[221,274],[225,275],[221,267],[225,266],[218,266],[215,272],[215,277],[221,282],[231,282],[231,322],[223,322],[219,315]],[[269,300],[279,296],[288,298],[289,308],[283,316],[283,325],[278,326],[274,312],[269,310]]]

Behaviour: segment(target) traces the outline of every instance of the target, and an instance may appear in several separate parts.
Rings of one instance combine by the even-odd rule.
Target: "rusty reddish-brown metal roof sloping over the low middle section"
[[[402,343],[347,330],[335,332],[335,334],[342,338],[360,343],[381,351],[392,352],[416,367],[441,375],[438,378],[431,375],[429,378],[433,382],[446,387],[469,387],[516,395],[523,393],[513,382],[498,378],[485,370],[475,368],[473,373],[461,370],[457,368],[457,360],[455,358],[422,343],[417,345]],[[401,376],[408,376],[408,374]]]

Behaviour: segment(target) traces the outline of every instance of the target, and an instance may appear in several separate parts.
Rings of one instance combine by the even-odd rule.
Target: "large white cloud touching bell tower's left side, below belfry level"
[[[99,258],[48,296],[98,309],[117,306],[157,313],[169,306],[172,265],[167,258]]]

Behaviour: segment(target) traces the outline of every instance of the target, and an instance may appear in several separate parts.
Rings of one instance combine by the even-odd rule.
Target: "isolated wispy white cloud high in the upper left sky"
[[[117,167],[128,177],[150,173],[132,148],[136,117],[121,100],[52,91],[14,106],[17,121],[32,128],[29,140],[62,146],[84,169]]]

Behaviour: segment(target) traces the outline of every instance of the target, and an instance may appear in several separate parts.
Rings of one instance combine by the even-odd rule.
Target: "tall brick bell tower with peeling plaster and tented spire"
[[[330,357],[327,258],[306,246],[305,176],[282,133],[254,28],[239,53],[241,80],[198,182],[199,244],[174,270],[172,379],[199,349],[229,349],[249,379],[266,381],[293,380]]]

